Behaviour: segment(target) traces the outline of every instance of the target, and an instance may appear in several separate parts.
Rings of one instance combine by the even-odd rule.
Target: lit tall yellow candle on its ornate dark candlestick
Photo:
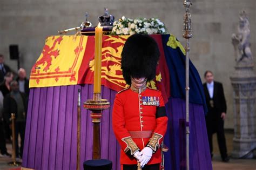
[[[102,78],[102,36],[103,28],[98,24],[95,28],[95,72],[93,80],[93,99],[84,103],[84,108],[92,111],[93,123],[93,159],[100,159],[100,118],[102,111],[110,107],[106,99],[101,98]]]

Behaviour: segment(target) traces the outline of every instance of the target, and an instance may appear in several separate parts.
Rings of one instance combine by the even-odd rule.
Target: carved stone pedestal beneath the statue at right
[[[234,158],[252,158],[256,148],[256,74],[253,65],[235,66],[230,77],[234,99]]]

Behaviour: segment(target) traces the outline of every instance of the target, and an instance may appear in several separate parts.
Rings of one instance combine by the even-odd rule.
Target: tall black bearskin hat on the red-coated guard
[[[131,77],[146,77],[147,81],[156,77],[160,52],[157,42],[149,35],[130,36],[124,44],[121,56],[121,69],[127,84],[131,85]]]

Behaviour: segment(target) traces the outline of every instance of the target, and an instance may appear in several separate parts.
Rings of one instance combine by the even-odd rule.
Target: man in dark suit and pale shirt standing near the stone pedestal
[[[212,135],[216,132],[221,158],[224,162],[228,162],[229,157],[227,156],[227,147],[224,134],[224,119],[226,117],[227,106],[223,85],[213,80],[213,73],[211,71],[206,71],[204,77],[206,83],[204,83],[203,86],[208,107],[208,113],[206,115],[206,127],[211,156],[213,157]]]

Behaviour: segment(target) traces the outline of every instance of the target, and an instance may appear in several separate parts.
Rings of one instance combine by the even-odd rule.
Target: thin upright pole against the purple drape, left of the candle
[[[80,130],[81,130],[81,94],[78,89],[77,103],[77,170],[80,169]]]

